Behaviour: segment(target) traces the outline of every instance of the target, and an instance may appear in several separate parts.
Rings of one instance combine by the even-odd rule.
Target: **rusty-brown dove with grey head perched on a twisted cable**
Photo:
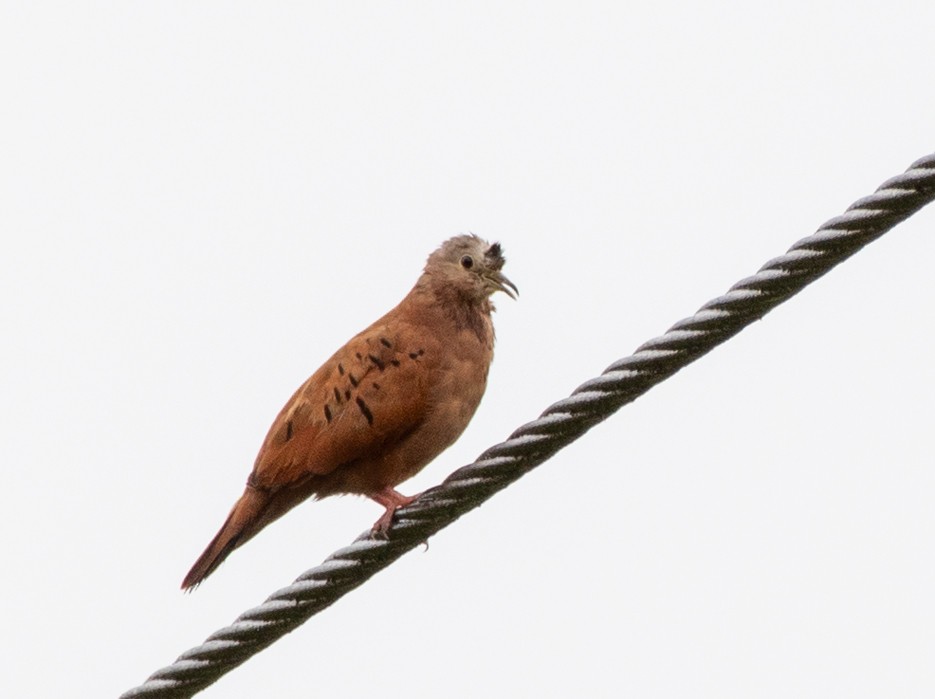
[[[292,395],[263,441],[218,533],[182,581],[191,591],[261,529],[304,500],[364,495],[387,536],[396,486],[465,430],[493,359],[491,296],[519,290],[499,243],[457,235],[429,255],[399,304],[335,352]]]

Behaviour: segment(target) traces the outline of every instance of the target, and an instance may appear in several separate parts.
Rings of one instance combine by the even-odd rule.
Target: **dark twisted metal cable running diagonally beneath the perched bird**
[[[397,511],[388,538],[366,532],[121,699],[191,697],[330,606],[407,551],[546,461],[598,422],[736,335],[935,199],[935,154],[737,282],[664,335],[611,364],[569,397]]]

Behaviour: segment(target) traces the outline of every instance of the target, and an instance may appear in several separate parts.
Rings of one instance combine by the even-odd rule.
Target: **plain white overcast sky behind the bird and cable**
[[[500,240],[440,481],[932,150],[931,2],[0,6],[3,696],[115,696],[350,542],[195,594],[270,422]],[[204,692],[929,697],[935,209]]]

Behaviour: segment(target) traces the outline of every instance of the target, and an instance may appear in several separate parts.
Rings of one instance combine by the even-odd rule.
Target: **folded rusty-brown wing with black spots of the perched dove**
[[[413,333],[398,322],[381,320],[286,403],[257,455],[252,486],[275,492],[326,475],[376,457],[419,426],[428,407],[428,357],[437,354],[412,342]]]

